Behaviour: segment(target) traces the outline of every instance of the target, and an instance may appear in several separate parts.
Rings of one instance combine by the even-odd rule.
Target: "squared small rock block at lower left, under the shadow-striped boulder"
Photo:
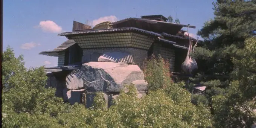
[[[75,104],[75,103],[81,103],[82,102],[82,94],[84,92],[84,89],[80,90],[67,90],[66,88],[64,89],[64,101],[68,101],[70,104]]]

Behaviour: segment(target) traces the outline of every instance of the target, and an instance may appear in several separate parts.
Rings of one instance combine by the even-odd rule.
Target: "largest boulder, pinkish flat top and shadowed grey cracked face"
[[[84,89],[89,92],[119,92],[123,85],[144,79],[137,65],[116,62],[89,62],[80,69],[83,73]]]

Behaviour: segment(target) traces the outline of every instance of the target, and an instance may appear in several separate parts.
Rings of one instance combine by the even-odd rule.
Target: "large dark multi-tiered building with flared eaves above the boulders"
[[[160,54],[170,62],[171,72],[180,73],[189,45],[189,39],[184,35],[186,31],[181,29],[195,26],[166,20],[163,15],[147,15],[114,23],[104,22],[93,28],[73,21],[72,32],[59,34],[68,38],[66,42],[52,51],[39,54],[58,57],[58,66],[46,67],[46,70],[62,84],[65,84],[64,76],[83,63],[125,62],[142,68],[145,58],[152,54]]]

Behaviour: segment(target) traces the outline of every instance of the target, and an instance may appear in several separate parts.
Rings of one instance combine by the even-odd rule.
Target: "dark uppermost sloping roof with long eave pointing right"
[[[188,27],[184,24],[169,23],[165,21],[149,20],[144,18],[127,18],[124,20],[113,22],[114,28],[119,27],[136,27],[143,30],[149,30],[153,32],[166,32],[168,34],[176,35],[182,27]],[[189,26],[195,28],[195,26]]]

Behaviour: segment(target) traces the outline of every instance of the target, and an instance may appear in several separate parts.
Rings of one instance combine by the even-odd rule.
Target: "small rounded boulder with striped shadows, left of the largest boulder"
[[[66,78],[66,87],[69,90],[81,89],[84,87],[84,81],[78,78],[77,73],[74,71],[70,73]]]

